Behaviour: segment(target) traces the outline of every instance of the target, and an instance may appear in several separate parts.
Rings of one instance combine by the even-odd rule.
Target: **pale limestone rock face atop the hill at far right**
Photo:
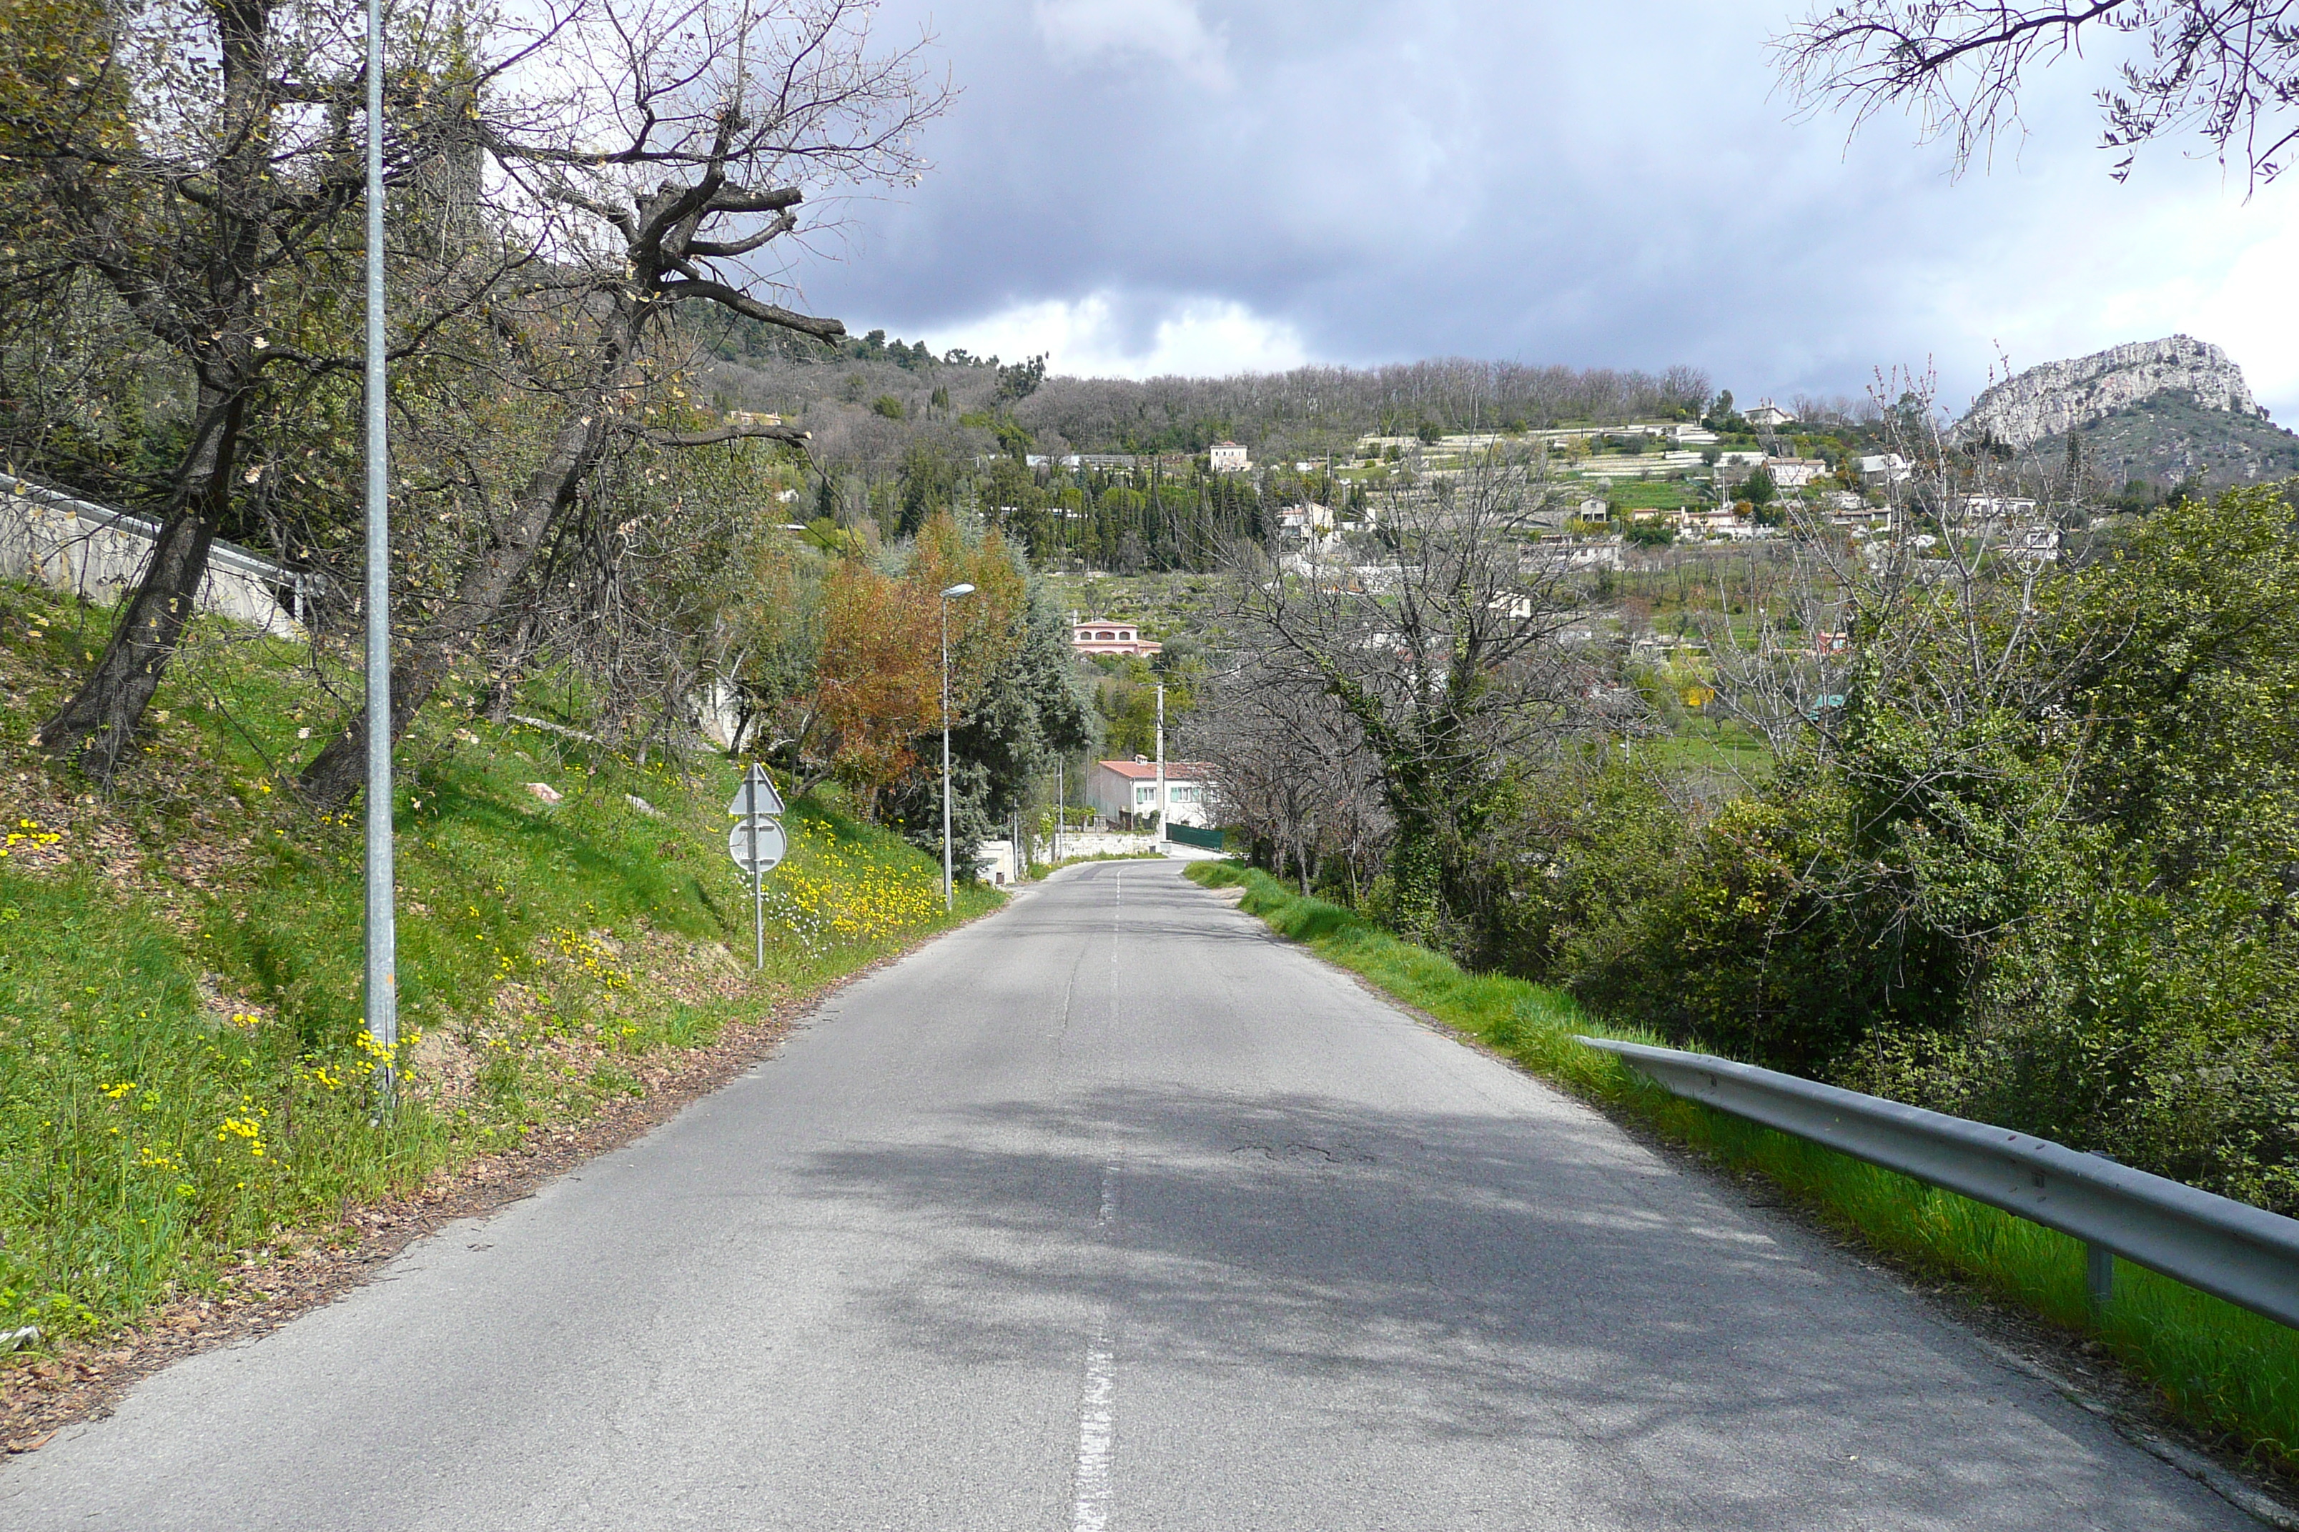
[[[2191,335],[2168,335],[2007,377],[1973,402],[1956,436],[1993,436],[2009,448],[2028,448],[2159,393],[2184,393],[2202,409],[2267,418],[2244,384],[2244,370],[2225,351]]]

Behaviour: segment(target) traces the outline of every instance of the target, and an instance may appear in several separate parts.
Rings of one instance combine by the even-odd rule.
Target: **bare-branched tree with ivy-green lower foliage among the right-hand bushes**
[[[2078,480],[1959,446],[1929,377],[1878,379],[1876,400],[1887,521],[1848,535],[1798,510],[1779,606],[1708,639],[1717,701],[1789,772],[1823,767],[1848,815],[1844,845],[1786,868],[1809,903],[1768,919],[1858,905],[1913,972],[1920,944],[1977,953],[2014,919],[2012,891],[2076,815],[2097,728],[2071,707],[2078,675],[2120,636],[2055,611]],[[1943,877],[1954,857],[1989,875]]]

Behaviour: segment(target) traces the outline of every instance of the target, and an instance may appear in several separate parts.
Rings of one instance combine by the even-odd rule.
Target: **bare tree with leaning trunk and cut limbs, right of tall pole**
[[[807,186],[910,184],[917,131],[947,92],[920,46],[876,53],[867,0],[655,0],[554,21],[552,78],[531,99],[480,103],[499,204],[536,230],[538,278],[499,303],[520,384],[554,400],[543,459],[501,496],[460,581],[409,636],[391,675],[391,733],[494,625],[538,551],[616,443],[802,443],[777,423],[706,423],[671,388],[687,372],[681,305],[731,310],[800,335],[837,319],[756,296],[756,255],[798,230]],[[366,728],[347,719],[303,767],[320,804],[352,797]]]

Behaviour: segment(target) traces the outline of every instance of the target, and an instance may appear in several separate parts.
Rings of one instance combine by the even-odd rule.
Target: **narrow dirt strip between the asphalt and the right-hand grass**
[[[1237,910],[1244,889],[1207,889],[1223,905]],[[1736,1171],[1733,1167],[1720,1162],[1690,1144],[1678,1144],[1676,1139],[1653,1132],[1648,1123],[1609,1109],[1605,1102],[1589,1100],[1556,1084],[1547,1075],[1540,1075],[1517,1059],[1504,1054],[1501,1050],[1487,1045],[1483,1038],[1467,1034],[1451,1022],[1430,1015],[1428,1011],[1398,999],[1382,985],[1373,983],[1363,974],[1356,974],[1324,953],[1315,951],[1306,942],[1294,942],[1281,935],[1260,916],[1237,910],[1237,914],[1262,933],[1264,939],[1281,946],[1292,946],[1333,969],[1350,983],[1354,983],[1366,995],[1379,999],[1384,1006],[1412,1018],[1421,1027],[1428,1027],[1437,1036],[1458,1043],[1471,1052],[1478,1052],[1494,1063],[1510,1068],[1527,1080],[1536,1080],[1543,1086],[1570,1096],[1591,1112],[1600,1114],[1614,1128],[1632,1137],[1637,1144],[1651,1148],[1653,1153],[1667,1158],[1678,1169],[1690,1169],[1701,1174],[1710,1185],[1731,1194],[1745,1208],[1782,1215],[1793,1222],[1805,1233],[1819,1238],[1832,1249],[1860,1261],[1869,1270],[1887,1275],[1904,1293],[1922,1302],[1931,1316],[1970,1339],[1982,1355],[2007,1367],[2044,1387],[2053,1390],[2069,1403],[2074,1403],[2085,1415],[2106,1422],[2120,1438],[2138,1447],[2140,1452],[2154,1456],[2156,1461],[2179,1470],[2189,1479],[2196,1479],[2214,1495],[2244,1511],[2253,1521],[2276,1532],[2299,1532],[2299,1509],[2278,1495],[2285,1486],[2276,1479],[2265,1477],[2253,1465],[2228,1454],[2223,1447],[2209,1438],[2198,1436],[2186,1422],[2166,1415],[2150,1390],[2127,1374],[2122,1364],[2115,1362],[2104,1348],[2090,1346],[2069,1337],[2067,1332],[2046,1325],[2044,1321],[2007,1309],[1993,1302],[1984,1293],[1968,1286],[1940,1282],[1931,1272],[1920,1272],[1906,1261],[1897,1259],[1892,1252],[1876,1249],[1862,1240],[1855,1231],[1848,1231],[1830,1222],[1819,1208],[1800,1204],[1784,1192],[1779,1192],[1770,1181],[1756,1171]],[[2069,1374],[2083,1374],[2083,1380]],[[2288,1491],[2285,1491],[2288,1493]]]

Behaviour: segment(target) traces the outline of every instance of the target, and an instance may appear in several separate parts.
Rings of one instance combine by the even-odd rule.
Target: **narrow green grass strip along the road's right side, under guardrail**
[[[1917,1270],[2094,1334],[2184,1419],[2228,1438],[2265,1468],[2299,1470],[2299,1334],[2292,1330],[2131,1263],[2117,1263],[2115,1300],[2094,1316],[2076,1240],[1669,1096],[1614,1054],[1582,1047],[1573,1034],[1662,1038],[1605,1027],[1556,990],[1462,972],[1350,910],[1287,891],[1267,873],[1200,861],[1184,875],[1205,887],[1241,884],[1241,907],[1278,933],[1577,1096],[1635,1114],[1736,1169],[1763,1174],[1832,1224]]]

